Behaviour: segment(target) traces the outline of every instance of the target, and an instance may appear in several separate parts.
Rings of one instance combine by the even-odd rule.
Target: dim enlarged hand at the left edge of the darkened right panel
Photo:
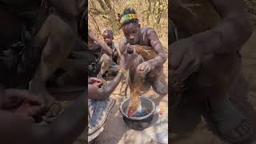
[[[202,42],[195,42],[193,38],[186,38],[170,45],[169,69],[184,82],[191,74],[197,72],[201,58],[205,55]]]

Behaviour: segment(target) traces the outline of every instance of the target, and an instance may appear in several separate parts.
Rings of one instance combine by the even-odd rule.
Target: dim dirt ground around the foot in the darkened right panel
[[[242,73],[245,79],[240,78],[238,85],[234,87],[232,96],[242,106],[243,114],[249,116],[256,123],[256,30],[246,45],[242,47]],[[246,92],[248,90],[248,93]],[[238,105],[236,105],[238,106]],[[186,108],[185,108],[186,107]],[[169,136],[172,144],[228,144],[219,137],[211,122],[207,120],[203,110],[193,104],[186,105],[179,115],[171,116],[171,134]],[[186,112],[185,112],[186,111]],[[256,137],[252,138],[250,144],[256,144]]]

